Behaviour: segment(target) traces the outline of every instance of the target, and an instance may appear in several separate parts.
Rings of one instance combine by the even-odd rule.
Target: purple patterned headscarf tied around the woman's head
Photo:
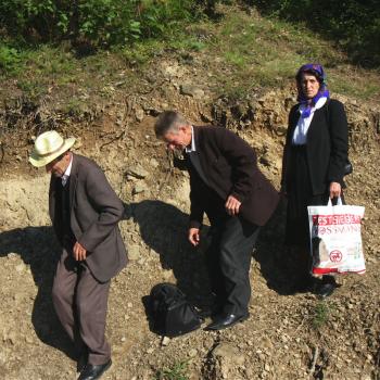
[[[326,85],[326,74],[325,74],[324,67],[321,65],[316,64],[316,63],[307,63],[307,64],[301,66],[296,73],[296,76],[295,76],[299,86],[300,86],[300,81],[301,81],[301,76],[305,72],[314,75],[318,79],[320,86],[319,86],[318,93],[312,99],[311,102],[304,96],[303,91],[301,91],[299,88],[299,96],[297,96],[296,100],[300,102],[300,104],[306,105],[305,110],[301,114],[302,117],[308,117],[311,115],[312,107],[317,103],[317,101],[320,98],[330,98],[330,92],[327,89],[327,85]]]

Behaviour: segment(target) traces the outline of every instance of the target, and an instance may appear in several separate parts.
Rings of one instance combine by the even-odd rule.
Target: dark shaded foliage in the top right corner
[[[266,14],[305,23],[315,31],[316,39],[325,36],[337,41],[354,62],[369,67],[380,65],[378,0],[258,0],[254,4]]]

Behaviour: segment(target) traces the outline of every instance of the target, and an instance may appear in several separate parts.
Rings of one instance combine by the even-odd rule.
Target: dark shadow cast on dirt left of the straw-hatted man
[[[55,315],[51,288],[60,246],[52,227],[16,228],[0,233],[0,257],[18,254],[30,267],[38,288],[33,306],[31,322],[37,337],[45,343],[74,358],[74,350]]]

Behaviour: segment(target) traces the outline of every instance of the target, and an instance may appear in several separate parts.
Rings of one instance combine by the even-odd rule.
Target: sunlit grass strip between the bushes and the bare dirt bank
[[[141,72],[156,59],[177,55],[191,64],[190,55],[200,53],[206,56],[207,85],[216,97],[241,100],[256,88],[283,87],[294,83],[302,64],[314,61],[326,66],[332,97],[338,92],[364,101],[379,98],[379,72],[347,65],[343,53],[304,25],[262,17],[254,8],[250,14],[237,7],[224,5],[221,11],[224,16],[216,23],[205,18],[183,22],[180,30],[167,30],[165,38],[138,40],[83,58],[68,42],[35,49],[3,42],[0,79],[16,78],[27,97],[55,91],[64,100],[65,96],[80,98],[85,91],[91,98],[98,94],[106,99],[117,89],[132,89]]]

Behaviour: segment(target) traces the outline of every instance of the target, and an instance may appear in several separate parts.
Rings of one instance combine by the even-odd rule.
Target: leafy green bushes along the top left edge
[[[0,29],[25,42],[126,45],[169,34],[197,16],[193,0],[2,0]]]

